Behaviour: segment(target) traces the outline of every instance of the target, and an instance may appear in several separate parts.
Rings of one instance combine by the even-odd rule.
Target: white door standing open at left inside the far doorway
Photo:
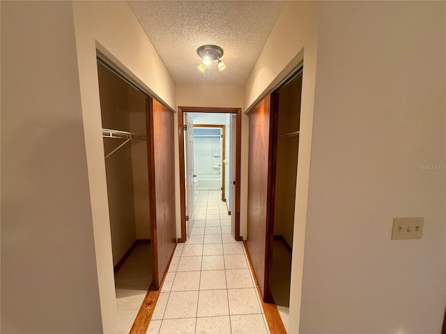
[[[194,227],[194,207],[195,207],[195,189],[194,189],[194,120],[184,114],[185,131],[185,186],[186,186],[186,225],[187,237],[190,236]]]

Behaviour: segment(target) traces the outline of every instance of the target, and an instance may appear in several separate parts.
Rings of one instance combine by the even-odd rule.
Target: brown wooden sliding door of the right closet
[[[257,282],[268,300],[270,193],[272,177],[273,95],[268,95],[249,113],[249,164],[247,248]]]

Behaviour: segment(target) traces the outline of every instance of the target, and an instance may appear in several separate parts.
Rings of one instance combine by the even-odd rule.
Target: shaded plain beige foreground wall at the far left
[[[2,1],[2,333],[102,333],[83,138],[71,3]]]

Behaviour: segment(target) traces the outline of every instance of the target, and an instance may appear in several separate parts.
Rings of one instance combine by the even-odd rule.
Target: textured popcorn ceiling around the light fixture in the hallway
[[[129,1],[176,84],[243,86],[284,1]],[[197,70],[201,45],[219,45],[228,66]]]

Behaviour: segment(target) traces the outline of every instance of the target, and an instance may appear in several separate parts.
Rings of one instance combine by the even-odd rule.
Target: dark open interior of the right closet
[[[272,94],[272,170],[268,290],[282,321],[289,322],[291,254],[298,173],[302,70]]]

